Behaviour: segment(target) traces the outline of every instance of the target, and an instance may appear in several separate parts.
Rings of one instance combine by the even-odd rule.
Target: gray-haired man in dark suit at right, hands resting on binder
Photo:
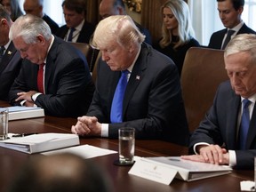
[[[229,42],[224,60],[230,81],[220,84],[212,108],[191,136],[190,152],[198,155],[183,156],[183,158],[211,164],[229,164],[236,168],[254,168],[254,156],[256,156],[255,47],[256,35],[254,34],[237,35]],[[245,108],[244,100],[250,100],[249,106]],[[246,111],[247,127],[244,125]],[[247,131],[244,128],[247,128]]]

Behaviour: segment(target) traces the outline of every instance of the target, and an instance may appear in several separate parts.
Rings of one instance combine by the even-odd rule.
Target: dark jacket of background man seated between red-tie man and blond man
[[[94,32],[95,26],[93,26],[91,23],[87,22],[86,20],[84,21],[84,26],[82,30],[80,31],[79,36],[77,37],[76,42],[78,43],[90,43],[90,38]],[[57,32],[57,36],[60,36],[60,38],[64,39],[65,36],[67,36],[68,33],[68,27],[67,25],[64,25],[59,28]]]

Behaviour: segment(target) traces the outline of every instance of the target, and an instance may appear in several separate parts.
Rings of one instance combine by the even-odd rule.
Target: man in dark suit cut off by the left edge
[[[9,39],[11,26],[10,14],[0,4],[0,47],[3,53],[0,56],[0,100],[8,100],[8,92],[20,72],[22,63],[20,52],[17,52]]]

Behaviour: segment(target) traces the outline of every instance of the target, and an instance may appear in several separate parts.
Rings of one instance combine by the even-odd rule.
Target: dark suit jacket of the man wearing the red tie
[[[38,91],[38,65],[24,60],[20,75],[9,94],[12,105],[17,92]],[[50,116],[82,116],[92,101],[94,84],[82,52],[55,36],[47,54],[44,72],[45,94],[36,99],[36,105]]]

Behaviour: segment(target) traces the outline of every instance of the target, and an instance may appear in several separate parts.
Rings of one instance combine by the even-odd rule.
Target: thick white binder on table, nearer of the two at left
[[[0,147],[11,148],[28,154],[68,148],[79,144],[78,135],[72,133],[39,133],[0,140]]]

